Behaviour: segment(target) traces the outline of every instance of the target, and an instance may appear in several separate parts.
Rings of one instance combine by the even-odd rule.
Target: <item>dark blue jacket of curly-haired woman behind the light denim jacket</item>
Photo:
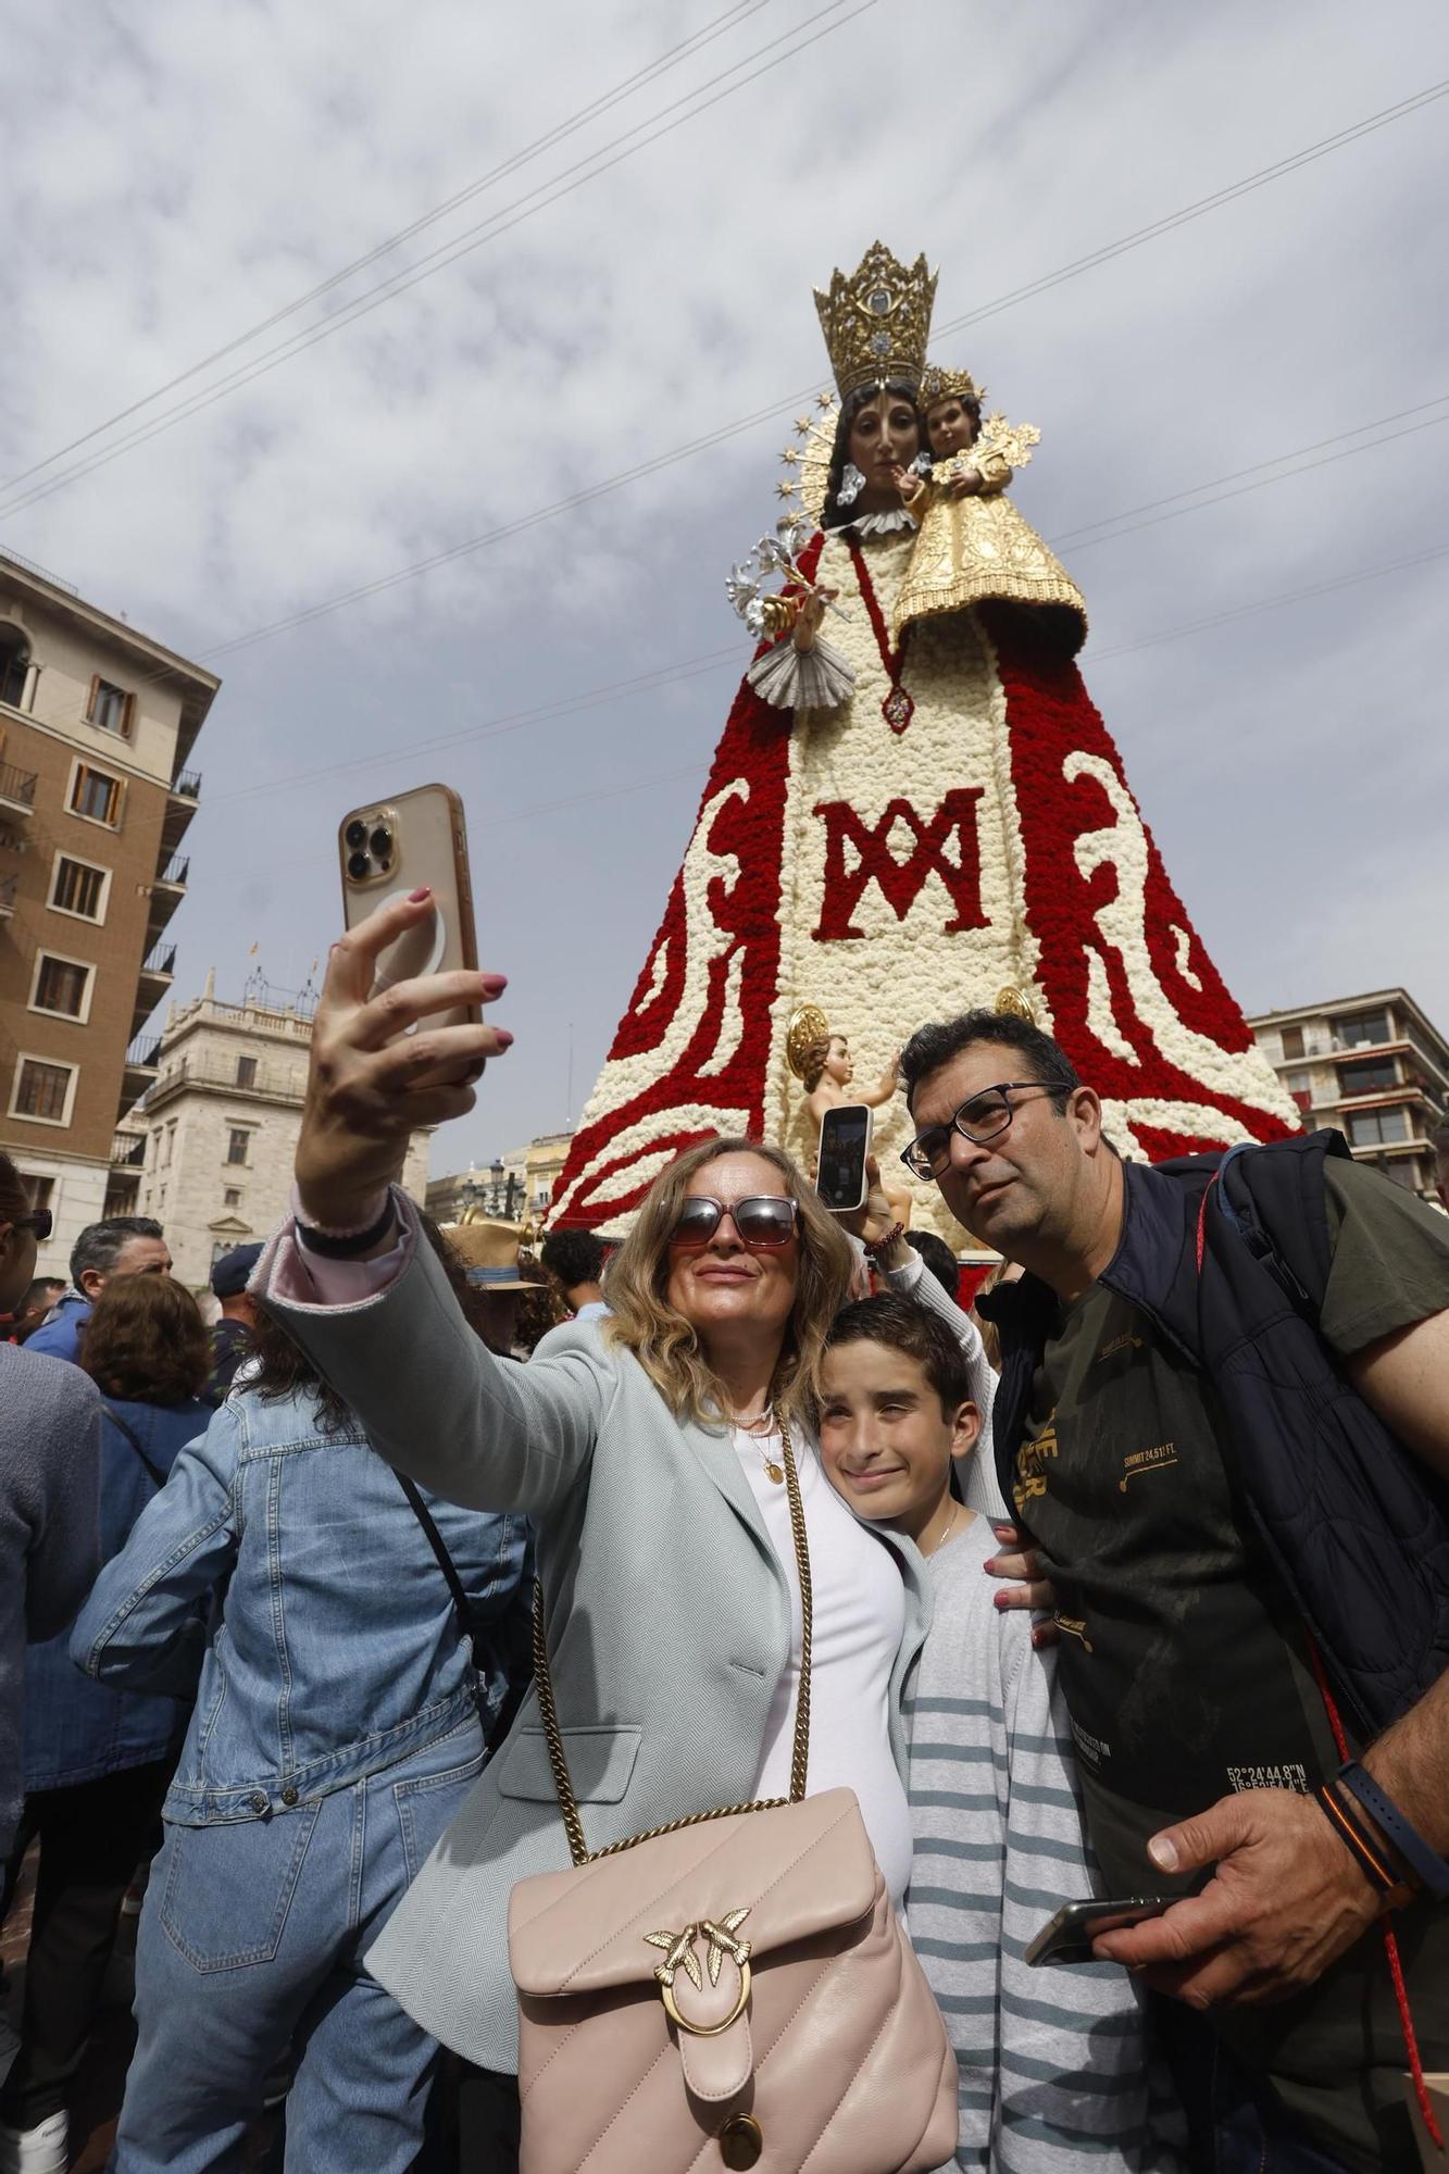
[[[185,1404],[139,1404],[113,1396],[102,1404],[102,1561],[126,1544],[137,1517],[165,1483],[176,1452],[202,1435],[209,1420],[211,1404],[196,1398]],[[70,1789],[165,1759],[176,1750],[185,1722],[187,1707],[176,1698],[122,1694],[87,1683],[72,1665],[70,1630],[63,1630],[26,1652],[26,1794]]]

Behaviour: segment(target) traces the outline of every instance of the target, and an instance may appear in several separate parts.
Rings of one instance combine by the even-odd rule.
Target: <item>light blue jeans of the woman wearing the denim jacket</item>
[[[476,1720],[315,1804],[168,1826],[111,2174],[239,2170],[292,2050],[287,2174],[407,2174],[437,2059],[361,1957],[483,1770]]]

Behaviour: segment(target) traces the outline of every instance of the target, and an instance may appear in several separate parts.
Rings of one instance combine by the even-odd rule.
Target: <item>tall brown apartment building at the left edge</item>
[[[104,1213],[117,1122],[157,1076],[187,894],[187,767],[220,680],[0,554],[0,1146],[54,1213]]]

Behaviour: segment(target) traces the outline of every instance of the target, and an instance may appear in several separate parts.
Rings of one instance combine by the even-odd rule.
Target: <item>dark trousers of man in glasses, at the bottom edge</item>
[[[1188,2117],[1194,2174],[1345,2174],[1273,2087],[1231,2057],[1205,2015],[1153,2002],[1153,2026]]]

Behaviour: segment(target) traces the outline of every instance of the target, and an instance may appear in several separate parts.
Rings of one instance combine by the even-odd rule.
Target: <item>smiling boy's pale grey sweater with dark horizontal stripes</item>
[[[1149,2133],[1144,2022],[1112,1963],[1031,1970],[1062,1902],[1099,1891],[1066,1707],[1029,1617],[999,1611],[983,1517],[929,1559],[936,1609],[914,1694],[909,1931],[959,2061],[957,2167],[1175,2167]]]

